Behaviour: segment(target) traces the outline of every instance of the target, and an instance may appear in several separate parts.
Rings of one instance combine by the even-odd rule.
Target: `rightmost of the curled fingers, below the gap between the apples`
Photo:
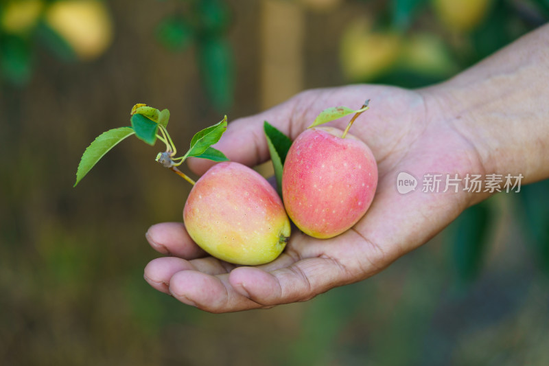
[[[271,272],[239,267],[229,275],[238,293],[263,306],[312,299],[350,279],[345,268],[331,258],[307,258]]]

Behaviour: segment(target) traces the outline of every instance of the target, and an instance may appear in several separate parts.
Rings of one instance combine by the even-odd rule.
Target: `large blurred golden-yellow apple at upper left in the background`
[[[113,25],[102,1],[57,1],[47,9],[46,21],[82,60],[97,58],[113,40]]]

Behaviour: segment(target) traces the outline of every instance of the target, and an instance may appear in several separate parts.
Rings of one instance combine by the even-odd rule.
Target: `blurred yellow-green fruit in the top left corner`
[[[42,0],[10,1],[1,12],[1,27],[5,32],[21,34],[30,30],[44,7]]]

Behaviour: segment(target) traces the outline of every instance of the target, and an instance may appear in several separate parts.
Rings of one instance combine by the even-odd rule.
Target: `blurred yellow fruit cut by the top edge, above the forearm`
[[[492,0],[433,0],[439,19],[449,30],[469,32],[488,13]]]

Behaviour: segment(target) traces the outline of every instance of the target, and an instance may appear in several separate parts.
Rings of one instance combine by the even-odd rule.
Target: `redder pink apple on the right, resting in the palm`
[[[332,238],[364,216],[377,187],[377,165],[364,142],[314,127],[293,142],[282,174],[288,216],[315,238]]]

